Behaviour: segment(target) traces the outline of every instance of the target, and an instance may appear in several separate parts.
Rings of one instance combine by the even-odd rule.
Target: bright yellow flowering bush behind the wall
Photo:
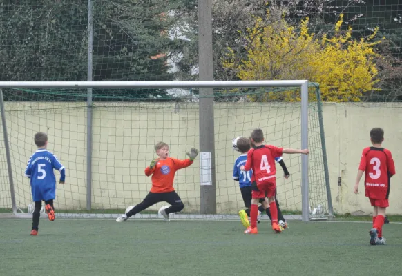
[[[359,101],[364,93],[375,90],[379,81],[374,64],[378,56],[374,46],[379,41],[370,41],[376,30],[366,39],[351,39],[352,28],[343,32],[342,23],[341,17],[332,37],[318,39],[309,33],[308,18],[296,32],[285,19],[266,25],[258,17],[245,34],[247,57],[239,57],[229,48],[224,66],[242,80],[309,79],[320,83],[324,101]],[[300,100],[294,92],[283,95],[286,101]],[[262,100],[276,97],[278,94],[268,95]]]

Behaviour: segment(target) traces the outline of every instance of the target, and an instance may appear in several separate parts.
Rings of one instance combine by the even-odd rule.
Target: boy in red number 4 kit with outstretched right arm
[[[264,145],[264,133],[260,128],[256,128],[251,132],[251,142],[255,145],[247,153],[247,161],[245,166],[241,166],[240,170],[253,170],[255,181],[251,184],[253,193],[251,199],[251,226],[245,230],[246,234],[257,234],[257,214],[258,201],[260,198],[268,198],[268,204],[272,217],[272,229],[280,232],[278,225],[278,208],[275,202],[276,190],[276,166],[275,158],[281,157],[283,153],[301,153],[308,155],[309,150],[294,150],[291,148],[277,148],[276,146]]]

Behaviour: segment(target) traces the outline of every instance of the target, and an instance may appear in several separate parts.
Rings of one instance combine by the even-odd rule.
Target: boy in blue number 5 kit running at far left
[[[42,201],[45,201],[45,210],[49,220],[55,220],[55,208],[53,200],[56,197],[56,177],[53,169],[60,172],[60,184],[64,184],[66,169],[52,152],[48,152],[48,135],[37,132],[34,137],[38,150],[28,160],[25,176],[30,179],[32,198],[35,202],[35,210],[32,215],[32,230],[30,235],[38,235],[40,210]]]

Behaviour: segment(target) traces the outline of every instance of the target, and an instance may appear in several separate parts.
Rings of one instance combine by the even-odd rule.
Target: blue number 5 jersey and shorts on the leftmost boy
[[[25,176],[30,178],[33,201],[55,199],[56,177],[53,169],[61,172],[60,181],[64,181],[64,166],[46,149],[37,150],[28,160]]]

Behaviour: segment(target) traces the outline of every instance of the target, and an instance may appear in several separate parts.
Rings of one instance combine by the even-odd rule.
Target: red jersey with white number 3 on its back
[[[390,177],[395,174],[395,164],[390,150],[365,148],[358,169],[365,172],[365,196],[372,199],[387,199],[390,194]]]

